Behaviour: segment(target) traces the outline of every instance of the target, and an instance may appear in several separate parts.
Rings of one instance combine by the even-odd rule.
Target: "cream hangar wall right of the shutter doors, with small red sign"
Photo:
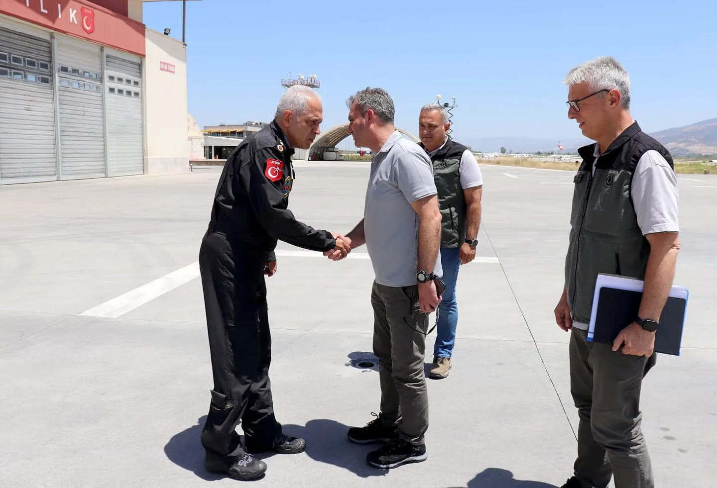
[[[147,173],[189,171],[187,145],[186,47],[146,29]],[[163,71],[160,63],[175,72]]]

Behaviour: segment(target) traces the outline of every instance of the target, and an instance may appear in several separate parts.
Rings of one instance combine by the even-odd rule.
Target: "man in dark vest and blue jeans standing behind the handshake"
[[[430,378],[446,378],[458,325],[455,285],[458,268],[475,258],[480,226],[483,176],[478,161],[466,148],[448,137],[448,113],[441,105],[424,105],[419,116],[421,145],[433,163],[433,176],[441,211],[441,264],[446,284],[438,305],[437,335]]]

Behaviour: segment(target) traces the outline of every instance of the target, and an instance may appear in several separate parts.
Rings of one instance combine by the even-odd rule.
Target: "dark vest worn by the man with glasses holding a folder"
[[[570,244],[565,259],[568,305],[576,322],[589,323],[598,273],[645,278],[650,244],[637,225],[630,187],[637,161],[656,150],[674,168],[672,156],[637,122],[597,158],[595,144],[579,149],[583,158],[575,175],[570,216]]]

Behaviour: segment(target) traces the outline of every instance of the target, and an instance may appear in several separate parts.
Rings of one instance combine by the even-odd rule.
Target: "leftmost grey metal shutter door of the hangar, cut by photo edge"
[[[49,34],[0,19],[0,183],[57,179]]]

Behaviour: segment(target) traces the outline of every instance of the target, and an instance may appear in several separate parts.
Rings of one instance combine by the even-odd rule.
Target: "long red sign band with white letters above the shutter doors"
[[[81,0],[2,0],[0,14],[140,56],[145,54],[144,24]]]

